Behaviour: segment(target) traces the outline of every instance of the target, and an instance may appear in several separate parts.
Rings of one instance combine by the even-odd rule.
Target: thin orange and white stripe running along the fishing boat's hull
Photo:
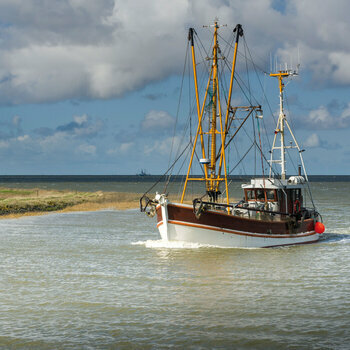
[[[178,220],[169,220],[169,224],[173,225],[181,225],[181,226],[191,226],[191,227],[196,227],[196,228],[202,228],[206,230],[212,230],[212,231],[219,231],[219,232],[226,232],[226,233],[232,233],[236,235],[241,235],[241,236],[252,236],[252,237],[263,237],[263,238],[299,238],[299,237],[306,237],[306,236],[312,236],[316,234],[315,231],[308,231],[308,232],[301,232],[301,233],[295,233],[295,234],[274,234],[274,235],[266,235],[266,234],[261,234],[261,233],[253,233],[253,232],[245,232],[245,231],[237,231],[237,230],[230,230],[230,229],[225,229],[225,228],[218,228],[218,227],[213,227],[213,226],[208,226],[208,225],[202,225],[202,224],[193,224],[193,223],[188,223],[185,221],[178,221]],[[157,227],[163,224],[163,221],[160,221],[157,224]]]

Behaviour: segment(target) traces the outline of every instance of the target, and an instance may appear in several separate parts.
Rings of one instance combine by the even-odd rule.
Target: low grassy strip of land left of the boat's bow
[[[40,215],[52,211],[137,208],[139,198],[138,193],[0,188],[0,217]]]

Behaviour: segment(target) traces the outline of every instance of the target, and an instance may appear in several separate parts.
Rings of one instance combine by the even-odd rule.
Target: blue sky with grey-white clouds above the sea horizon
[[[347,0],[0,0],[0,175],[162,174],[188,28],[207,36],[215,18],[242,24],[266,71],[300,62],[287,97],[308,173],[350,174],[349,14]]]

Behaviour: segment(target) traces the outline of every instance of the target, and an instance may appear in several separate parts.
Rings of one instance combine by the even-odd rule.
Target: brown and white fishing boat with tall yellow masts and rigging
[[[233,30],[230,64],[227,62],[228,56],[219,45],[219,40],[224,40],[219,35],[221,26],[216,20],[210,27],[213,38],[212,48],[206,58],[209,64],[204,93],[200,93],[197,81],[198,62],[194,45],[197,33],[190,28],[188,34],[194,81],[196,133],[191,135],[186,146],[189,149],[189,162],[181,198],[179,201],[172,201],[164,191],[157,192],[151,199],[145,193],[140,199],[141,211],[148,216],[156,216],[157,228],[165,241],[242,248],[316,242],[325,228],[312,200],[302,157],[304,150],[299,147],[284,108],[284,81],[298,72],[286,68],[269,73],[270,77],[278,80],[279,115],[275,121],[270,155],[266,157],[261,143],[262,106],[251,103],[252,99],[248,99],[250,103],[243,106],[233,106],[231,103],[233,86],[235,82],[240,82],[236,76],[236,62],[238,45],[244,34],[242,26],[238,24]],[[223,67],[227,66],[229,74],[225,75]],[[222,92],[222,80],[228,76],[229,87]],[[237,135],[243,129],[246,130],[244,125],[248,119],[255,125],[253,146],[261,156],[262,174],[243,183],[243,199],[232,202],[229,195],[228,150]],[[291,140],[289,143],[287,136]],[[296,173],[287,176],[286,154],[292,150],[298,154],[300,163]],[[193,174],[195,163],[201,174]],[[268,171],[265,173],[266,164]],[[276,167],[279,171],[276,171]],[[172,168],[173,166],[170,167]],[[203,185],[202,195],[193,198],[192,203],[185,200],[190,182]],[[306,197],[311,198],[311,207],[307,207]]]

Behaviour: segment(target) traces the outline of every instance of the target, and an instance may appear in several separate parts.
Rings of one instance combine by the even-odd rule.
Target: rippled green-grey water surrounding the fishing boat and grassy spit
[[[137,210],[1,220],[0,348],[348,349],[350,183],[311,186],[305,246],[165,244]]]

